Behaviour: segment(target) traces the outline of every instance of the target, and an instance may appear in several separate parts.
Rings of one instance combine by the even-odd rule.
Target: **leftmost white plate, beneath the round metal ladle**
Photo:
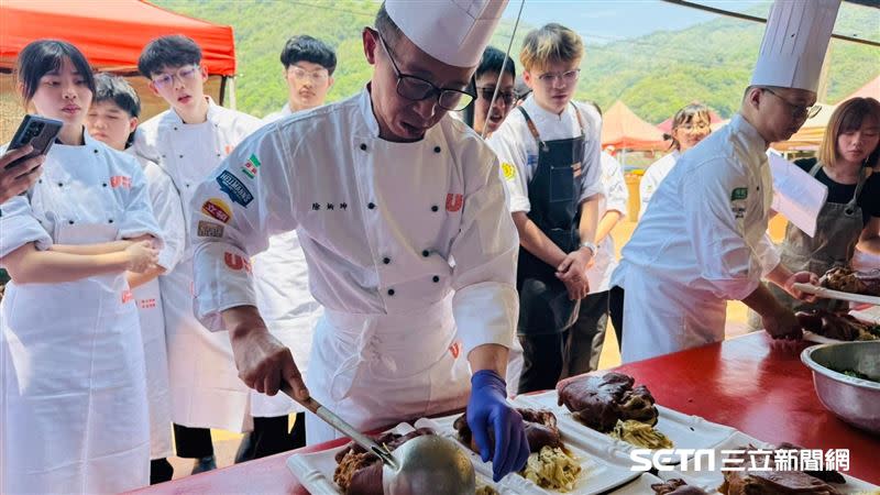
[[[414,428],[411,426],[402,422],[389,431],[406,435],[413,430]],[[322,450],[320,452],[290,455],[287,458],[287,469],[294,473],[294,476],[299,480],[299,483],[301,483],[311,495],[342,495],[342,490],[333,483],[333,472],[337,469],[336,455],[343,449],[345,449],[345,446]],[[513,492],[493,483],[492,472],[490,472],[488,477],[477,472],[476,485],[490,485],[502,495],[518,495],[522,493]]]

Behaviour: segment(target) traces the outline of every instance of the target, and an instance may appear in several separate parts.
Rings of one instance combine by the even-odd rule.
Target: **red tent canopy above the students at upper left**
[[[52,37],[75,44],[97,69],[135,73],[138,57],[150,40],[178,33],[201,46],[209,74],[235,75],[231,26],[180,15],[143,0],[2,0],[0,69],[12,68],[28,43]]]

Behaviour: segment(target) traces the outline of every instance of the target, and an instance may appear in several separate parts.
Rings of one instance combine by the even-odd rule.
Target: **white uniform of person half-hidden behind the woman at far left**
[[[153,215],[162,228],[164,248],[158,253],[158,265],[165,273],[174,270],[184,255],[186,224],[180,196],[167,173],[129,148],[144,170],[150,188]],[[172,455],[172,403],[168,391],[168,352],[165,345],[165,315],[158,278],[135,287],[134,301],[141,321],[146,360],[146,395],[150,403],[150,459]]]

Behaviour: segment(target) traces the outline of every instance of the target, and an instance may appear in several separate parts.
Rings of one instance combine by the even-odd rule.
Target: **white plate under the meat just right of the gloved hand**
[[[606,433],[596,431],[579,420],[574,419],[565,406],[557,404],[557,392],[549,391],[535,395],[520,395],[514,399],[514,404],[520,407],[531,407],[536,409],[550,409],[557,415],[559,429],[579,444],[595,443],[604,439],[610,441],[616,450],[625,454],[627,465],[629,452],[637,447],[629,442],[615,440]],[[672,440],[675,449],[712,449],[727,440],[736,432],[736,429],[728,426],[707,421],[698,416],[689,416],[663,406],[657,406],[659,418],[657,428],[661,433]]]

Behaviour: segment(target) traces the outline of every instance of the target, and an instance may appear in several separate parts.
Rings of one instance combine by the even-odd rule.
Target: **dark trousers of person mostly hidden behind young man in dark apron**
[[[569,329],[561,378],[588,373],[598,367],[605,327],[608,323],[608,292],[581,299],[578,320]]]

